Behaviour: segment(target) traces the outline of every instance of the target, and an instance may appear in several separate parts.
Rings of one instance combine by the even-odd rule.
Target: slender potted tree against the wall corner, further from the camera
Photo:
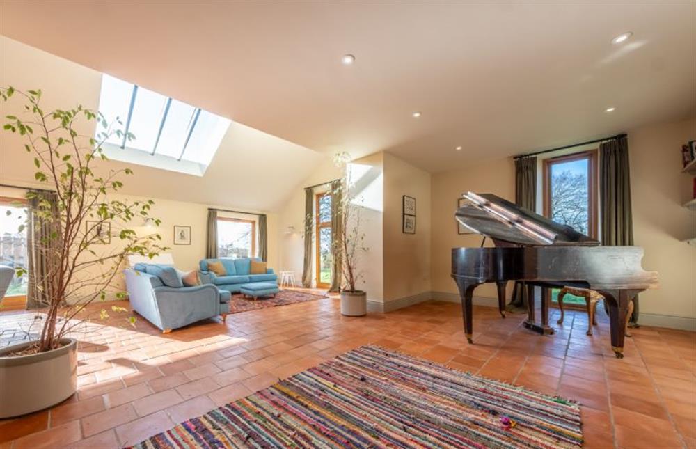
[[[360,290],[358,285],[363,282],[363,271],[358,268],[360,256],[367,251],[365,233],[361,228],[362,206],[354,189],[351,189],[350,157],[346,152],[335,156],[335,164],[340,167],[342,177],[338,186],[333,186],[335,207],[332,215],[338,222],[340,231],[334,233],[334,254],[340,261],[337,265],[341,270],[341,315],[361,317],[367,314],[367,293]],[[336,200],[338,198],[338,200]]]

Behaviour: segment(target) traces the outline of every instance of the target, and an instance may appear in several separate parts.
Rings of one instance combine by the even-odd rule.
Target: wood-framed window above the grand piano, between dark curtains
[[[597,238],[596,150],[544,160],[544,215]]]

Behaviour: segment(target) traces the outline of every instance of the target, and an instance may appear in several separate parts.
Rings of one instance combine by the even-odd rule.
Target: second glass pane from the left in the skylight
[[[135,139],[127,141],[127,147],[146,152],[152,152],[155,149],[166,102],[167,98],[164,95],[138,88],[129,127],[129,132],[134,134]]]

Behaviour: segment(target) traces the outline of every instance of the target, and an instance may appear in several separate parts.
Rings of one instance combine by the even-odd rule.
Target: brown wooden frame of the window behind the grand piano
[[[550,157],[544,159],[543,192],[544,192],[544,216],[551,219],[551,166],[562,162],[572,162],[587,159],[587,231],[593,239],[598,238],[597,223],[599,215],[599,201],[597,189],[599,188],[597,150],[575,152],[571,155]]]

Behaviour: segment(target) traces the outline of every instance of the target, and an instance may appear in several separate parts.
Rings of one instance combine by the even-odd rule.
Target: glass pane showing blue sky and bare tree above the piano
[[[589,234],[588,159],[552,164],[551,219]]]

